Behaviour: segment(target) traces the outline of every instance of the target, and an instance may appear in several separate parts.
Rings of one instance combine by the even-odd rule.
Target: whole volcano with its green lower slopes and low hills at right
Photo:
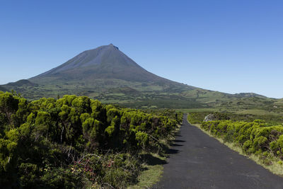
[[[274,103],[255,93],[220,93],[156,76],[112,44],[83,51],[45,73],[2,87],[30,100],[76,94],[135,108],[266,108]]]

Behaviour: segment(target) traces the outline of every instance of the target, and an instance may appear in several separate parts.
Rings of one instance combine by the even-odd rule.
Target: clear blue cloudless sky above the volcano
[[[173,81],[283,98],[283,1],[0,1],[0,84],[113,43]]]

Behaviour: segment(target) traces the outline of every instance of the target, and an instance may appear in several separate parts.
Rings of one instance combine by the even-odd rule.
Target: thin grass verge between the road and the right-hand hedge
[[[219,142],[226,145],[226,147],[229,147],[229,149],[232,149],[233,151],[237,151],[239,154],[246,156],[248,159],[255,161],[256,164],[264,167],[265,169],[274,173],[275,175],[283,176],[283,164],[282,164],[281,159],[275,156],[262,157],[262,156],[258,156],[255,154],[245,154],[243,153],[243,150],[241,149],[241,147],[238,147],[233,142],[224,142],[223,139],[219,137],[215,137],[214,135],[210,134],[210,132],[203,130],[202,127],[200,127],[200,124],[194,124],[194,126],[202,130],[202,132],[204,132],[205,134],[209,135],[209,137],[214,137]]]

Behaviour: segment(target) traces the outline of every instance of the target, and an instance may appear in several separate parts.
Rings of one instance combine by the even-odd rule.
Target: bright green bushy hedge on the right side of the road
[[[262,120],[233,122],[217,120],[202,122],[201,127],[221,137],[226,142],[235,142],[248,154],[272,154],[283,159],[283,126],[268,126]]]

